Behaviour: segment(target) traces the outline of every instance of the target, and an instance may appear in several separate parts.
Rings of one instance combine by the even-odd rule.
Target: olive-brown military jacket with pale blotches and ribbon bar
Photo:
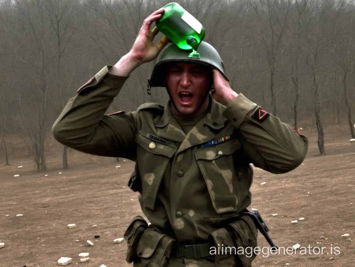
[[[250,205],[249,163],[271,173],[286,173],[306,156],[306,137],[243,94],[228,107],[209,96],[207,115],[187,134],[171,115],[170,102],[166,107],[146,103],[133,112],[105,115],[128,78],[109,69],[105,66],[69,100],[54,123],[53,135],[78,151],[135,161],[131,182],[135,181],[132,189],[141,193],[142,211],[157,232],[163,233],[170,222],[169,235],[179,244],[201,243],[214,232],[216,241],[222,224]],[[257,229],[250,223],[234,228],[244,231],[239,233],[240,244],[245,240],[257,244]],[[220,242],[226,245],[228,240]],[[153,243],[151,239],[146,246],[157,246]],[[142,257],[152,257],[153,249],[141,250]],[[217,266],[198,259],[179,262],[176,266]]]

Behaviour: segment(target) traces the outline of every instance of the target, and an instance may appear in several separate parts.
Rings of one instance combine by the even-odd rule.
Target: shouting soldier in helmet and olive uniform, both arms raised
[[[118,63],[69,100],[53,135],[78,151],[136,162],[129,185],[151,224],[136,216],[126,229],[133,266],[251,266],[258,232],[251,217],[241,216],[251,204],[250,163],[276,174],[292,171],[308,140],[231,89],[218,52],[206,42],[200,59],[175,44],[161,53],[149,86],[166,88],[166,107],[146,103],[105,115],[132,71],[169,43],[164,37],[154,45],[158,31],[150,32],[163,11],[146,18]]]

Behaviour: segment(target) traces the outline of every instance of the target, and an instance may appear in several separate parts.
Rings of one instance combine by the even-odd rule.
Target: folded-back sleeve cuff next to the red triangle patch
[[[223,111],[223,116],[230,121],[234,127],[238,128],[244,121],[245,116],[254,110],[257,104],[247,99],[243,94],[238,96]]]

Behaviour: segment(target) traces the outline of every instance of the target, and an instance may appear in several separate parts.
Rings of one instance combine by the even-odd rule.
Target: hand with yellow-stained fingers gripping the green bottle
[[[158,9],[144,20],[135,43],[129,52],[129,54],[141,64],[154,60],[165,45],[171,43],[171,41],[165,36],[160,39],[160,42],[157,45],[154,45],[153,43],[153,39],[158,34],[159,30],[157,27],[153,30],[150,30],[150,28],[155,20],[158,20],[163,16],[163,13],[164,8]]]

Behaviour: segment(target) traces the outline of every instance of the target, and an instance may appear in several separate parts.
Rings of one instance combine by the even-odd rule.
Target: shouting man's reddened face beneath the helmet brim
[[[211,72],[206,66],[198,63],[176,62],[166,70],[166,85],[174,101],[173,112],[177,116],[187,116],[196,111],[209,88]],[[208,107],[208,98],[200,110],[202,113]]]

